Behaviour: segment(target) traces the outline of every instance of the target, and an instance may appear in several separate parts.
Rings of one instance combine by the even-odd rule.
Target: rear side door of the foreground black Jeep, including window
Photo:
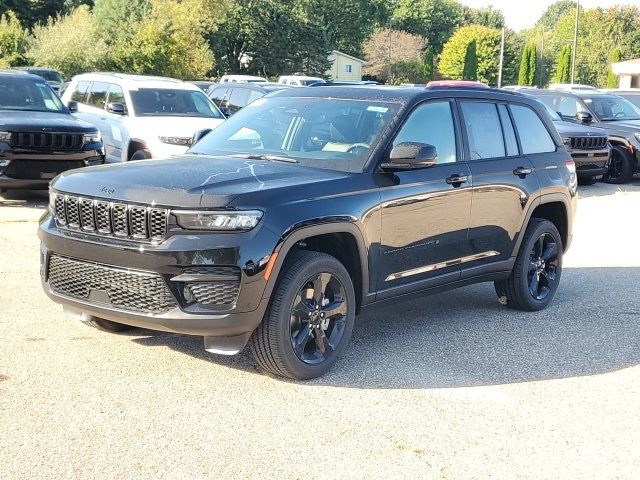
[[[459,107],[473,177],[469,240],[474,259],[462,272],[467,278],[485,273],[491,264],[499,270],[497,262],[510,259],[539,184],[518,144],[507,104],[464,99]]]

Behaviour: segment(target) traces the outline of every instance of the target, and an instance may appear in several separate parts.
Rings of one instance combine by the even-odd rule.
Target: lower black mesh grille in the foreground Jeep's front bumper
[[[177,308],[175,298],[157,273],[59,255],[51,256],[48,267],[51,289],[68,297],[140,313],[161,314]]]

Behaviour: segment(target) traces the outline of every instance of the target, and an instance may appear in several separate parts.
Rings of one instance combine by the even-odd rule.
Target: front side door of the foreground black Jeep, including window
[[[454,104],[446,99],[418,105],[393,145],[436,147],[433,167],[384,175],[378,298],[455,281],[469,254],[471,174],[459,162]]]

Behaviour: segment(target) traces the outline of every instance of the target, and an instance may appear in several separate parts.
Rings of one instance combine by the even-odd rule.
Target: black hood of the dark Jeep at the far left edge
[[[78,120],[69,113],[29,112],[26,110],[2,110],[0,130],[13,132],[95,132],[96,127]]]

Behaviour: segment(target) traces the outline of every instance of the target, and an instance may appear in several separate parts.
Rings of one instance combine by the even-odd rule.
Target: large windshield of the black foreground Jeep
[[[398,107],[348,99],[265,97],[213,130],[190,153],[262,156],[358,172]]]

